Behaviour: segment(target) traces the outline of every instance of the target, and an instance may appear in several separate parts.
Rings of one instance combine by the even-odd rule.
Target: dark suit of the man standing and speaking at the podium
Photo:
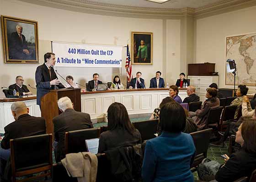
[[[53,67],[50,67],[52,79],[50,79],[50,74],[48,67],[43,63],[43,65],[37,67],[36,71],[36,83],[37,83],[37,105],[41,105],[41,97],[47,94],[51,89],[54,89],[54,85],[50,86],[50,81],[58,78]],[[61,83],[56,85],[58,88],[65,88]]]

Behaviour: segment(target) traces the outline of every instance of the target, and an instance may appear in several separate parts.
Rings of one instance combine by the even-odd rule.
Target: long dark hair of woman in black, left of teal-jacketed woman
[[[125,106],[119,102],[112,103],[107,109],[108,130],[118,128],[127,130],[130,134],[135,131]]]

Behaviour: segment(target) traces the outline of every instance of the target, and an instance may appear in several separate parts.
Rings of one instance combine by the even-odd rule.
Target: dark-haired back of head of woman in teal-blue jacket
[[[176,102],[168,102],[161,107],[160,127],[162,131],[179,133],[186,126],[186,114],[183,107]]]

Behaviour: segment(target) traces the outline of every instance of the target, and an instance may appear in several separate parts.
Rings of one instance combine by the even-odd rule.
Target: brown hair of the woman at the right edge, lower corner
[[[256,153],[256,120],[245,119],[241,124],[241,134],[244,139],[243,147],[249,153]]]

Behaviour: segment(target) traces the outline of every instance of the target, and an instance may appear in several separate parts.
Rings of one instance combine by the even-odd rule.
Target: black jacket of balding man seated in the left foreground
[[[29,114],[23,114],[18,117],[17,121],[13,121],[5,126],[5,137],[1,142],[3,149],[10,148],[10,139],[42,135],[46,133],[46,125],[43,117],[34,117]]]

